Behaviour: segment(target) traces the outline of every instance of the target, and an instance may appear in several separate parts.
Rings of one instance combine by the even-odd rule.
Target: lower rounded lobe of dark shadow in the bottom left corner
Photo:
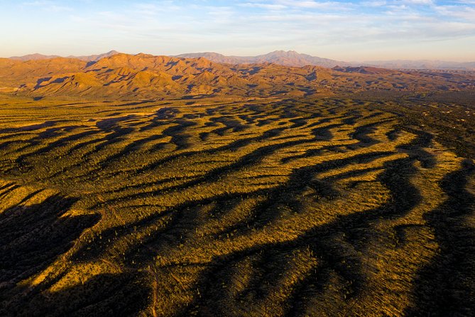
[[[149,288],[141,274],[99,274],[61,291],[20,294],[0,306],[5,317],[138,316],[148,302]]]

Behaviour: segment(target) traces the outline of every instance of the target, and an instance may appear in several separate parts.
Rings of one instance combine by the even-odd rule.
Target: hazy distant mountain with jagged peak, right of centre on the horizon
[[[271,53],[257,56],[225,56],[219,53],[205,52],[205,53],[187,53],[177,55],[181,58],[207,58],[215,63],[228,64],[255,64],[255,63],[274,63],[284,66],[302,67],[305,65],[322,66],[332,68],[336,65],[349,65],[349,63],[330,60],[328,58],[319,58],[307,54],[300,54],[295,50],[275,50]]]

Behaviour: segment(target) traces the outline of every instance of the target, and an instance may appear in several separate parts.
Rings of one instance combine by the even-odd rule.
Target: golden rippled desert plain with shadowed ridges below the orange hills
[[[424,274],[452,257],[433,215],[464,210],[474,238],[473,161],[378,103],[192,103],[4,100],[2,252],[17,264],[1,313],[433,313]],[[466,182],[458,207],[450,181]]]

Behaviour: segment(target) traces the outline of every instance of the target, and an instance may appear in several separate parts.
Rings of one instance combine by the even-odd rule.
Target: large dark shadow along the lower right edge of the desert
[[[447,174],[440,183],[447,200],[425,215],[440,250],[418,274],[408,316],[475,315],[475,230],[467,219],[475,212],[475,195],[466,190],[474,174],[468,159]]]

